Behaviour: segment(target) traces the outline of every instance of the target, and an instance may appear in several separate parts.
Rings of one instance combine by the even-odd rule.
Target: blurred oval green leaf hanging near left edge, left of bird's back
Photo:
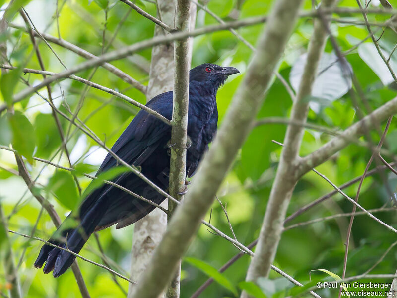
[[[36,141],[33,125],[18,111],[9,116],[9,124],[12,129],[12,147],[28,160],[31,159]]]

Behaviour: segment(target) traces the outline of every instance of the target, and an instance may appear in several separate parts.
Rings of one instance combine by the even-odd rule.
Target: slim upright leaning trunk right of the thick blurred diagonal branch
[[[322,7],[323,5],[329,7],[333,2],[334,0],[325,0],[322,2]],[[314,32],[309,42],[305,69],[291,111],[290,119],[292,121],[306,122],[309,109],[309,103],[306,98],[312,92],[317,66],[324,51],[326,38],[326,29],[323,27],[322,22],[316,19],[314,22]],[[289,125],[287,128],[284,147],[267,203],[257,249],[248,268],[247,281],[255,282],[259,277],[267,277],[269,274],[270,266],[274,260],[281,238],[289,200],[298,180],[296,165],[303,133],[304,126],[302,125]],[[250,296],[243,291],[241,298],[248,297]]]

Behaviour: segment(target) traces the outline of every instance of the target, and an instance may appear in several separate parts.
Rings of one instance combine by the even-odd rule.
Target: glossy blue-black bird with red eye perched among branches
[[[188,136],[191,145],[187,151],[188,177],[195,174],[217,130],[216,92],[229,75],[236,73],[239,71],[234,67],[209,63],[190,70]],[[147,106],[171,120],[172,104],[173,91],[169,91],[154,97]],[[169,183],[170,139],[171,127],[141,110],[111,150],[128,164],[140,167],[144,176],[166,191]],[[117,166],[116,159],[108,154],[96,175]],[[132,172],[125,172],[112,181],[157,204],[164,200],[161,194]],[[113,224],[117,224],[116,228],[133,224],[154,208],[119,188],[105,184],[85,197],[78,210],[69,214],[49,242],[78,253],[94,231]],[[67,251],[45,244],[34,266],[41,268],[46,262],[44,273],[53,271],[54,277],[58,277],[71,266],[74,259],[75,256]]]

